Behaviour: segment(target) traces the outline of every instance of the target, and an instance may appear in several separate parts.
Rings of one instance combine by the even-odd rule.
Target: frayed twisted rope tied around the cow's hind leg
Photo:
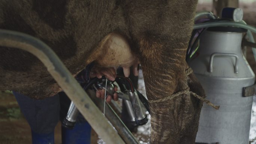
[[[191,68],[186,69],[186,75],[187,76],[189,74],[191,74],[192,72],[193,72],[193,70]],[[214,105],[213,103],[211,103],[210,101],[208,101],[205,98],[202,98],[201,96],[197,95],[196,93],[189,91],[189,87],[186,88],[184,91],[180,91],[180,92],[177,92],[175,94],[165,96],[164,98],[159,98],[159,99],[156,99],[156,100],[148,100],[148,101],[149,101],[149,103],[163,102],[163,101],[167,101],[169,99],[173,99],[176,96],[180,96],[180,95],[183,95],[183,94],[191,94],[195,98],[198,98],[199,100],[205,102],[206,104],[210,105],[211,107],[215,108],[216,110],[218,110],[219,107],[220,107],[219,105]]]

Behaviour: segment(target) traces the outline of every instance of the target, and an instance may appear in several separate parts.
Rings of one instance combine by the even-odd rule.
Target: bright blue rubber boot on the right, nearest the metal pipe
[[[91,144],[91,126],[88,122],[76,123],[73,129],[61,127],[62,144]]]

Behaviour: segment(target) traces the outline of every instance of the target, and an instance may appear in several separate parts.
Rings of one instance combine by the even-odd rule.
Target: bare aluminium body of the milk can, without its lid
[[[243,88],[254,85],[255,74],[241,50],[243,33],[224,31],[205,31],[189,62],[206,99],[220,105],[202,107],[196,143],[248,144],[253,96],[243,97]]]

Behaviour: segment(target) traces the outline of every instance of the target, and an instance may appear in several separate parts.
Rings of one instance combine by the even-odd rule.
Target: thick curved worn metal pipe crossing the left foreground
[[[0,46],[23,49],[35,55],[107,144],[125,144],[48,45],[28,34],[0,29]]]

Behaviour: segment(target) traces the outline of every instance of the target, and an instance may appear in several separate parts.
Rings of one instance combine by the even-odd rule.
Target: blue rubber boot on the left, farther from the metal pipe
[[[37,134],[31,131],[32,144],[54,144],[54,132],[49,134]]]

